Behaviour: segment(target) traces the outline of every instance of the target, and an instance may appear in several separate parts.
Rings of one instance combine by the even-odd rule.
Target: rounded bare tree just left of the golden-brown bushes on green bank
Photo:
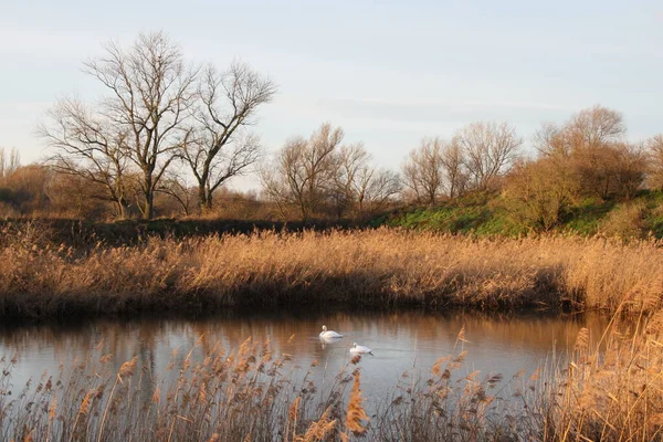
[[[504,176],[518,155],[523,140],[506,123],[473,123],[456,133],[454,144],[465,155],[471,183],[477,190],[488,190],[496,178]]]

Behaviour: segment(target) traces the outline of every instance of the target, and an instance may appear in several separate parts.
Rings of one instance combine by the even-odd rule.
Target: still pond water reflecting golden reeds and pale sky
[[[323,343],[323,324],[344,334],[343,339]],[[217,343],[236,349],[251,337],[269,339],[275,354],[292,355],[293,368],[308,369],[313,361],[316,385],[330,382],[350,360],[354,341],[373,349],[364,356],[362,389],[369,399],[380,399],[396,386],[406,371],[429,370],[441,356],[469,350],[464,370],[504,375],[511,378],[520,369],[533,372],[571,349],[581,327],[599,336],[607,320],[601,316],[477,315],[453,312],[311,313],[219,315],[201,319],[95,320],[78,325],[40,325],[0,329],[0,355],[19,355],[12,375],[15,388],[38,379],[45,370],[98,351],[113,355],[118,370],[123,362],[138,356],[138,364],[160,375],[170,361],[183,360],[192,348],[202,358]],[[464,327],[464,341],[457,340]],[[97,345],[101,346],[95,350]],[[198,346],[196,346],[198,343]],[[149,391],[145,391],[149,397]]]

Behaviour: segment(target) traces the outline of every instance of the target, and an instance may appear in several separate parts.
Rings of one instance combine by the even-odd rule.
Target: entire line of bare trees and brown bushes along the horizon
[[[544,124],[535,155],[507,123],[476,122],[422,139],[397,172],[330,124],[265,156],[253,126],[276,84],[239,61],[188,62],[161,32],[109,43],[84,66],[106,94],[56,102],[39,127],[53,152],[45,162],[21,166],[15,149],[0,149],[0,214],[368,219],[474,193],[499,196],[519,222],[549,230],[582,198],[663,188],[663,135],[630,143],[622,115],[601,106]],[[249,172],[260,194],[228,190]]]

